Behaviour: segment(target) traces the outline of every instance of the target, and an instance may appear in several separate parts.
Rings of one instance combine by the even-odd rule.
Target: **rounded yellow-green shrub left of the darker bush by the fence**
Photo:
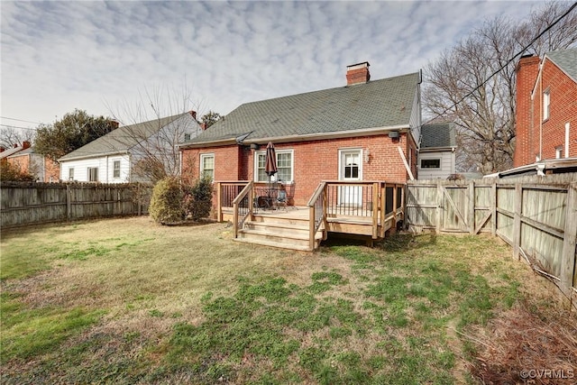
[[[149,207],[151,218],[162,225],[181,222],[185,217],[183,197],[179,179],[174,177],[160,179],[152,189]]]

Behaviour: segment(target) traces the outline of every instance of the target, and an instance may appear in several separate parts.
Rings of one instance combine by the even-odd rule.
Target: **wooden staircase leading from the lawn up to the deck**
[[[325,228],[320,228],[316,232],[314,248],[311,249],[308,237],[309,221],[306,215],[295,214],[290,211],[285,214],[255,214],[252,221],[245,222],[243,228],[239,229],[238,237],[234,240],[300,252],[314,252],[326,238]]]

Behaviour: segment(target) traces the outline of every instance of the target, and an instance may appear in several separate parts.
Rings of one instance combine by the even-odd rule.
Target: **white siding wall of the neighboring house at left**
[[[120,178],[114,178],[114,160],[120,160]],[[74,180],[87,182],[88,169],[98,168],[98,182],[126,183],[130,181],[130,158],[128,155],[111,155],[82,160],[60,161],[60,178],[69,180],[69,170],[74,169]]]

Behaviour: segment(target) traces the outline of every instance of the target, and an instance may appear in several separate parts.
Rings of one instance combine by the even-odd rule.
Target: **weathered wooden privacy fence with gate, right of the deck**
[[[470,181],[411,181],[407,223],[414,232],[490,233],[537,269],[577,292],[577,175]]]

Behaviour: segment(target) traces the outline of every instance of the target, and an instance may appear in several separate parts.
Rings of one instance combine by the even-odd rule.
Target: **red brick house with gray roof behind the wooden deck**
[[[416,176],[420,73],[371,80],[369,66],[348,66],[343,87],[240,105],[180,144],[182,178],[266,183],[268,142],[296,206],[323,180],[404,183],[405,161]]]

